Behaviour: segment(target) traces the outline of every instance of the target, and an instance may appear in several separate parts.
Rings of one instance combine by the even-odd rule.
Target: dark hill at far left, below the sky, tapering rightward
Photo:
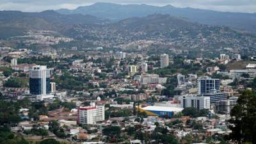
[[[21,35],[24,31],[31,29],[63,32],[75,24],[102,24],[104,22],[108,20],[98,19],[92,15],[61,15],[52,10],[40,13],[1,11],[0,38]]]

